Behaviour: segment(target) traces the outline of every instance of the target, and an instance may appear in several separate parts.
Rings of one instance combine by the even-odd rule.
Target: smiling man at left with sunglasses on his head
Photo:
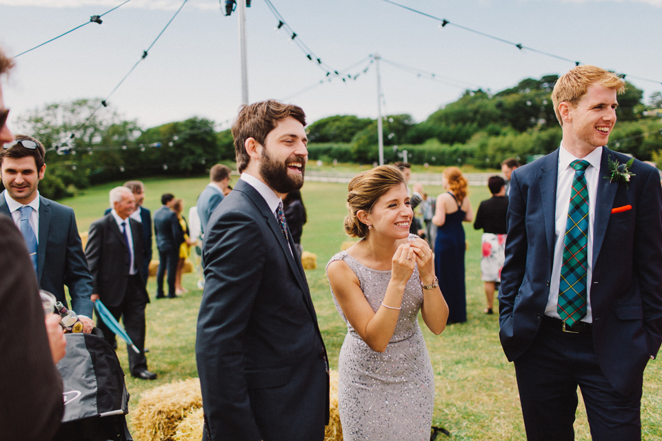
[[[39,180],[46,173],[45,150],[37,139],[17,135],[0,149],[0,174],[5,186],[0,195],[0,213],[11,216],[28,245],[39,287],[52,292],[83,322],[83,332],[94,327],[92,276],[83,253],[74,210],[39,196]]]

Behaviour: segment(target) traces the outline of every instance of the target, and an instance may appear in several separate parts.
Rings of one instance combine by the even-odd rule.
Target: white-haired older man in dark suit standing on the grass
[[[135,197],[127,187],[110,190],[112,211],[90,225],[85,254],[94,280],[94,294],[114,318],[122,318],[126,333],[139,349],[126,345],[131,375],[154,380],[156,373],[147,370],[145,347],[145,308],[150,297],[145,289],[143,271],[143,229],[130,218],[135,210]],[[115,336],[103,320],[97,327],[112,345]]]

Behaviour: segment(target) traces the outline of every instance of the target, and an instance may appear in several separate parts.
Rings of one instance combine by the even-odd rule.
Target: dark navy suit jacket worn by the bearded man
[[[203,439],[323,440],[326,351],[292,236],[288,247],[241,179],[209,225],[196,339]]]

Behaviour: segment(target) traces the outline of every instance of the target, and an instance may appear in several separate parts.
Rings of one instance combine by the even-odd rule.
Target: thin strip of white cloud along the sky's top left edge
[[[0,0],[1,6],[37,6],[40,8],[79,8],[82,6],[98,6],[99,8],[114,8],[123,3],[123,0]],[[122,8],[140,8],[148,10],[177,10],[183,0],[131,0]],[[219,9],[218,0],[188,0],[185,8],[199,10]]]

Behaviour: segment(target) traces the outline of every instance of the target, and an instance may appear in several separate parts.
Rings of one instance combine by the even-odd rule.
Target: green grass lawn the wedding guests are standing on
[[[146,207],[158,209],[160,197],[171,192],[184,199],[185,213],[196,201],[208,182],[207,178],[146,179]],[[88,189],[86,194],[61,201],[73,207],[79,229],[101,217],[108,207],[108,191],[121,183]],[[441,187],[426,187],[436,196]],[[302,189],[308,210],[308,223],[301,240],[306,251],[317,254],[318,269],[306,271],[319,325],[330,356],[332,369],[337,369],[338,354],[345,336],[345,324],[333,305],[324,267],[347,236],[343,233],[347,185],[307,182]],[[472,205],[489,197],[487,187],[470,187]],[[514,367],[503,355],[499,344],[497,316],[485,316],[485,294],[480,274],[481,231],[465,224],[469,241],[466,256],[468,322],[449,326],[441,336],[434,336],[422,325],[435,376],[435,407],[433,425],[443,426],[454,440],[523,440]],[[155,254],[158,256],[158,254]],[[152,382],[127,377],[135,406],[140,393],[173,380],[197,376],[195,365],[195,326],[201,300],[196,289],[197,276],[186,274],[183,283],[189,292],[177,300],[152,300],[147,308],[147,342],[150,349],[150,371],[159,374]],[[154,297],[155,281],[150,279],[148,291]],[[422,323],[422,320],[421,320]],[[126,347],[118,349],[122,366],[128,372]],[[642,401],[643,439],[662,439],[662,368],[652,361],[644,374]],[[581,400],[580,400],[581,402]],[[583,404],[577,411],[576,439],[590,440]],[[129,413],[129,417],[131,413]],[[443,439],[439,435],[438,439]],[[137,440],[140,441],[140,440]]]

